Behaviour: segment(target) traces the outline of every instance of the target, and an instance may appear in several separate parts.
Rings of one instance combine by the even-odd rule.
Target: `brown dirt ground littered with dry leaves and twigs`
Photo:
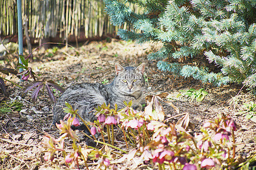
[[[192,78],[184,79],[170,73],[163,73],[156,67],[156,61],[148,61],[147,54],[159,48],[159,44],[146,43],[143,45],[134,42],[126,42],[112,39],[110,42],[93,41],[81,44],[79,48],[65,49],[63,46],[55,46],[45,51],[36,50],[34,61],[30,66],[38,80],[54,80],[62,87],[71,86],[80,82],[109,83],[115,76],[114,63],[122,66],[138,66],[146,63],[148,78],[145,95],[168,92],[168,99],[180,109],[181,113],[188,112],[191,123],[195,129],[189,129],[192,133],[200,131],[201,126],[208,120],[214,120],[219,114],[230,114],[239,125],[235,131],[237,156],[246,159],[247,155],[256,150],[256,124],[245,118],[241,113],[243,103],[255,101],[251,95],[241,87],[234,84],[222,87],[213,87],[210,84],[202,84]],[[5,66],[7,62],[3,62]],[[8,64],[15,66],[15,60],[9,60]],[[3,75],[1,75],[3,76]],[[19,82],[13,75],[5,77],[20,86],[25,87],[28,82]],[[42,147],[43,135],[49,133],[57,136],[59,131],[51,126],[52,106],[46,93],[39,93],[36,104],[32,104],[31,92],[22,94],[22,90],[13,84],[6,82],[10,98],[1,94],[0,100],[16,100],[23,104],[22,111],[13,111],[8,114],[0,113],[0,169],[46,169],[65,168],[63,162],[55,164],[45,162],[43,159],[44,148]],[[185,96],[177,97],[180,90],[187,91],[190,88],[199,90],[204,88],[208,92],[201,102],[191,101]],[[56,92],[56,98],[58,94]],[[175,116],[176,112],[166,104],[164,109],[166,118]],[[180,117],[172,119],[176,122]],[[80,141],[81,146],[85,145]],[[90,167],[96,163],[89,163]],[[118,164],[119,169],[133,169],[127,164]],[[143,169],[143,168],[142,168]]]

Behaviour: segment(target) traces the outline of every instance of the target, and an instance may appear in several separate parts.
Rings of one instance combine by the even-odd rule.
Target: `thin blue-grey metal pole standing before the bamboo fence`
[[[18,44],[19,44],[19,55],[23,55],[23,32],[22,32],[22,8],[21,8],[21,1],[17,1],[18,5]],[[22,61],[19,57],[19,63],[22,64]],[[19,69],[19,72],[22,72],[23,69]]]

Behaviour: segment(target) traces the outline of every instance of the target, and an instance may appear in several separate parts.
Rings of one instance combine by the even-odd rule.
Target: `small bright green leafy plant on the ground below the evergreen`
[[[208,92],[204,90],[204,88],[200,88],[199,90],[195,90],[194,88],[189,89],[188,91],[182,91],[183,96],[187,96],[191,98],[191,101],[202,101],[204,100],[204,97],[208,95]],[[181,94],[177,95],[177,97],[181,96]]]

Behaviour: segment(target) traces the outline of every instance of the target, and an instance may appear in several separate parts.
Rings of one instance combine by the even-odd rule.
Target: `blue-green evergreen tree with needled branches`
[[[255,0],[104,0],[113,25],[123,40],[161,41],[162,48],[148,55],[159,70],[192,76],[216,86],[232,82],[256,86]],[[141,7],[139,14],[129,7]],[[220,70],[184,65],[181,58],[204,57]]]

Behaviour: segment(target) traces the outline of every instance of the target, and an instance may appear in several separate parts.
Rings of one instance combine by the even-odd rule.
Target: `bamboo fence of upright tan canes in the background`
[[[22,18],[33,38],[64,36],[66,39],[69,35],[79,37],[81,31],[86,38],[102,37],[118,29],[110,23],[104,8],[102,0],[22,0]],[[16,1],[0,0],[0,10],[0,35],[17,34]]]

